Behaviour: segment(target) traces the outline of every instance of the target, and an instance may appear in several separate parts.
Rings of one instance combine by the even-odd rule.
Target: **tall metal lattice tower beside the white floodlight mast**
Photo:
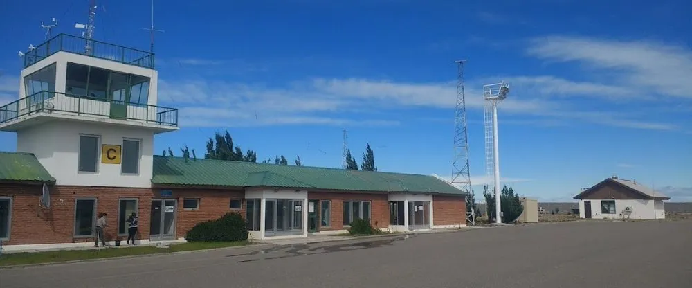
[[[468,171],[468,133],[466,131],[466,95],[464,94],[464,64],[457,63],[457,104],[454,111],[454,159],[452,161],[452,183],[471,193],[471,174]]]

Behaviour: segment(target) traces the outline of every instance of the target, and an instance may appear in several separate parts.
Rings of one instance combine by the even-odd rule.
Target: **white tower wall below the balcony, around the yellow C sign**
[[[100,136],[97,173],[78,173],[80,134]],[[122,145],[122,138],[140,140],[139,174],[122,174],[120,164],[101,163],[101,145]],[[152,186],[154,134],[149,129],[59,120],[17,132],[17,151],[36,155],[57,185],[143,187]]]

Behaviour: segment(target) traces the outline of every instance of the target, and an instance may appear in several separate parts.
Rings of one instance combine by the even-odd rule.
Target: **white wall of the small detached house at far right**
[[[608,199],[603,199],[608,201]],[[591,201],[591,217],[593,219],[621,219],[627,218],[625,208],[632,207],[632,212],[629,213],[629,219],[658,219],[658,211],[655,208],[654,200],[631,199],[631,200],[614,200],[615,214],[601,213],[602,200],[579,200],[579,217],[585,218],[584,201]],[[659,200],[660,201],[660,200]],[[665,212],[663,212],[665,214]],[[621,215],[622,214],[622,215]]]

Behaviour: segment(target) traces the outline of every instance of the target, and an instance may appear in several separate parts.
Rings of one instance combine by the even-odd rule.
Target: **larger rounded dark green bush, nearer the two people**
[[[248,240],[248,224],[240,213],[226,213],[219,219],[199,222],[192,227],[188,242],[232,242]]]

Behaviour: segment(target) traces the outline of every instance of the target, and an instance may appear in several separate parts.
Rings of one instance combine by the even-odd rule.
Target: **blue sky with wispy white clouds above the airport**
[[[3,4],[0,99],[17,98],[20,59],[41,21],[79,35],[86,0]],[[617,174],[692,201],[692,36],[686,1],[158,1],[159,105],[179,132],[156,153],[228,129],[261,159],[339,167],[342,129],[381,171],[450,177],[456,67],[466,65],[471,178],[484,176],[483,84],[500,106],[503,183],[571,199]],[[100,1],[95,38],[148,50],[149,1]],[[683,33],[685,32],[685,33]],[[0,132],[0,150],[15,150]],[[480,187],[475,188],[479,194]]]

